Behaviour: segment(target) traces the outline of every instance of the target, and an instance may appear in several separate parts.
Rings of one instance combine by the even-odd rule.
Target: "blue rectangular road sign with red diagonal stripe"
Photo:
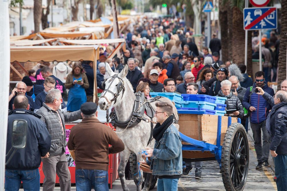
[[[276,29],[276,7],[252,7],[243,9],[244,30]]]

